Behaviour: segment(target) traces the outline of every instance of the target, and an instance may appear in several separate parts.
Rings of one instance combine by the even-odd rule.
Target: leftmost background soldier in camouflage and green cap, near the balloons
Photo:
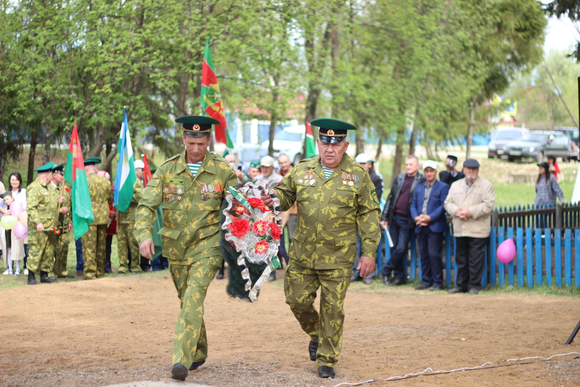
[[[28,285],[37,285],[34,273],[40,270],[42,283],[55,283],[56,278],[49,277],[55,263],[53,227],[56,226],[57,197],[50,185],[54,162],[42,165],[37,179],[26,189],[26,212],[28,214]]]

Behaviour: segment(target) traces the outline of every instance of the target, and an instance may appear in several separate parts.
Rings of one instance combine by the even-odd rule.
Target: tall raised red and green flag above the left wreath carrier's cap
[[[204,65],[201,70],[201,110],[205,115],[222,122],[221,125],[213,125],[216,141],[233,148],[234,144],[227,134],[226,114],[219,93],[218,77],[213,69],[212,54],[209,52],[209,38],[205,41]]]

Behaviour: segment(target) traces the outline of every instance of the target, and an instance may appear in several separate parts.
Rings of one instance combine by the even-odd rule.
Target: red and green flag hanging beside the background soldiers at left
[[[64,179],[73,186],[73,230],[75,239],[78,239],[89,230],[89,225],[95,218],[93,218],[93,206],[90,203],[89,185],[86,182],[85,161],[82,158],[81,143],[78,140],[76,122],[73,128],[73,135],[71,136],[71,143],[68,147]]]

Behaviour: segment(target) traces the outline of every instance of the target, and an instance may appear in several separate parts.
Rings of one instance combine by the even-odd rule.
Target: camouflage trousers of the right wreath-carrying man
[[[315,270],[290,261],[284,278],[286,303],[300,327],[318,342],[316,367],[334,367],[342,348],[342,328],[345,321],[346,290],[350,285],[350,267]],[[316,291],[320,292],[320,313],[314,308]]]

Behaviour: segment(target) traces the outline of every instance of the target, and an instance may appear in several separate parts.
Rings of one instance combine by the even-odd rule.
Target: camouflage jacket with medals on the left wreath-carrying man
[[[134,234],[139,245],[152,239],[155,209],[163,203],[164,227],[158,234],[170,263],[191,265],[198,259],[221,256],[220,207],[224,192],[237,183],[230,163],[209,151],[195,178],[185,152],[169,158],[157,168],[137,205]],[[209,192],[208,185],[221,191]]]

